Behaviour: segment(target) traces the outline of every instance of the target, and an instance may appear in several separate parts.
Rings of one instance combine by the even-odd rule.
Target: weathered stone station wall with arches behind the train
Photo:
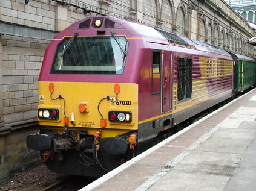
[[[74,7],[76,5],[76,7]],[[0,0],[0,185],[38,161],[25,145],[38,131],[38,76],[53,36],[102,13],[255,56],[255,32],[222,0]]]

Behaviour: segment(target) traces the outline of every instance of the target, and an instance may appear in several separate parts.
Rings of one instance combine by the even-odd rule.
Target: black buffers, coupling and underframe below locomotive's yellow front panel
[[[60,174],[99,177],[134,155],[134,151],[128,149],[128,138],[136,131],[100,139],[86,131],[64,128],[64,133],[59,134],[51,128],[42,127],[39,134],[30,135],[27,145],[41,151],[48,168]]]

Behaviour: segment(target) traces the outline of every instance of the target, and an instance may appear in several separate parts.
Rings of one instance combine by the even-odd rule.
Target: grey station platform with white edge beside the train
[[[80,190],[255,190],[255,133],[253,89]]]

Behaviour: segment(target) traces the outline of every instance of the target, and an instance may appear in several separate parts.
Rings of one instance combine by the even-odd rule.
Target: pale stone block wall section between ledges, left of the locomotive
[[[36,118],[38,75],[48,40],[2,36],[4,122]]]

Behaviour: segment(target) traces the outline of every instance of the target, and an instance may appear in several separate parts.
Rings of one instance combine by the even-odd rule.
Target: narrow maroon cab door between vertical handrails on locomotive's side
[[[162,50],[161,55],[161,112],[171,110],[171,55]]]

